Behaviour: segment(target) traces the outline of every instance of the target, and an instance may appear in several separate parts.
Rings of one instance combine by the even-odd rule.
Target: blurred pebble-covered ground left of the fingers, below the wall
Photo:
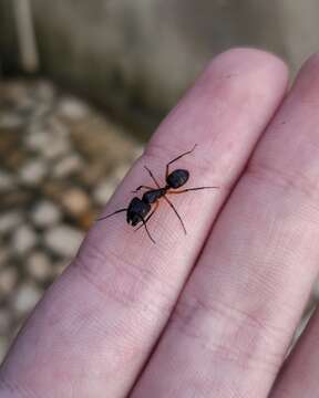
[[[48,81],[0,83],[0,363],[141,153]]]

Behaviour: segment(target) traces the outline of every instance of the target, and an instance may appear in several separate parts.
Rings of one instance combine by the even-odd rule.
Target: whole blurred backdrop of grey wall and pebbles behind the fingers
[[[208,60],[257,46],[294,76],[318,14],[316,0],[0,0],[0,362]]]

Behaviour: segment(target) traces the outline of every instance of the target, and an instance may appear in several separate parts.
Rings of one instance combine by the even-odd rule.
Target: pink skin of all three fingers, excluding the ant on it
[[[104,214],[195,143],[187,185],[220,189],[171,197],[187,235],[163,201],[156,244],[123,214],[95,223],[11,347],[1,398],[317,397],[319,315],[285,357],[319,268],[318,106],[318,55],[288,94],[274,55],[215,57]]]

